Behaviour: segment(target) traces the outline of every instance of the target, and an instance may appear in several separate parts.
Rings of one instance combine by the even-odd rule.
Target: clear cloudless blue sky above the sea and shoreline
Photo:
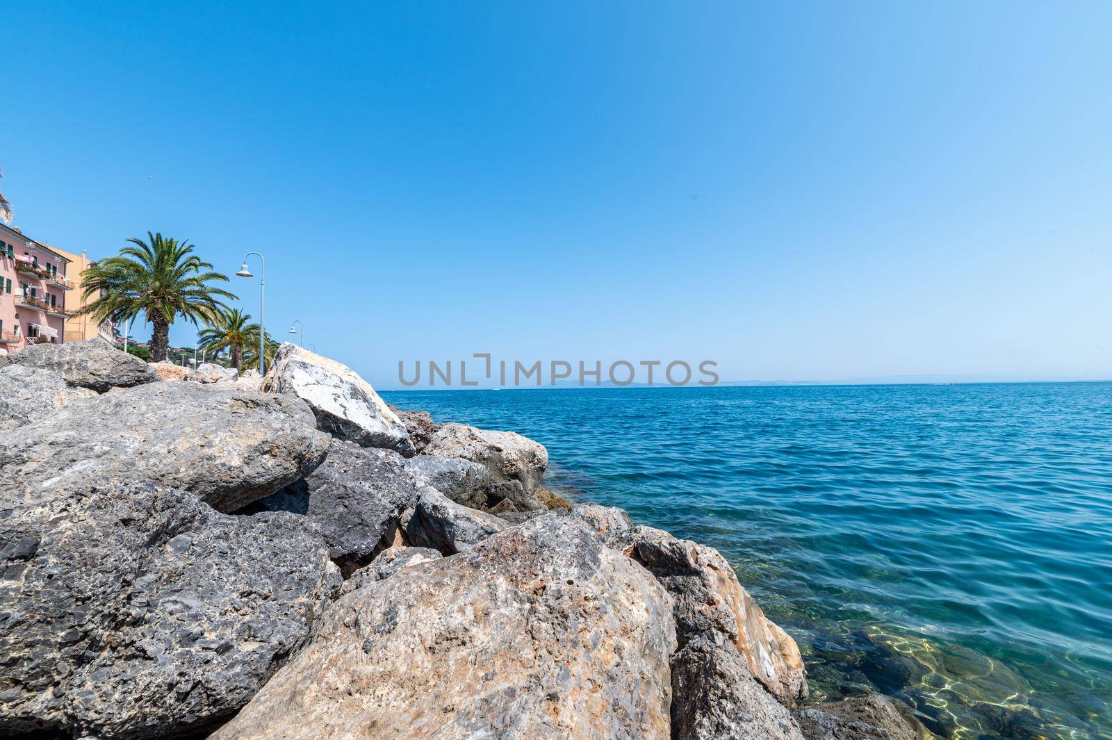
[[[1112,378],[1112,6],[920,4],[9,2],[2,188],[95,257],[264,252],[268,328],[386,388]]]

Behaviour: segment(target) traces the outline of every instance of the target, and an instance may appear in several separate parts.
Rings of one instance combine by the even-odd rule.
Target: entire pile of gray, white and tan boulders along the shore
[[[909,740],[805,703],[713,548],[572,503],[510,431],[284,344],[0,358],[0,736]]]

